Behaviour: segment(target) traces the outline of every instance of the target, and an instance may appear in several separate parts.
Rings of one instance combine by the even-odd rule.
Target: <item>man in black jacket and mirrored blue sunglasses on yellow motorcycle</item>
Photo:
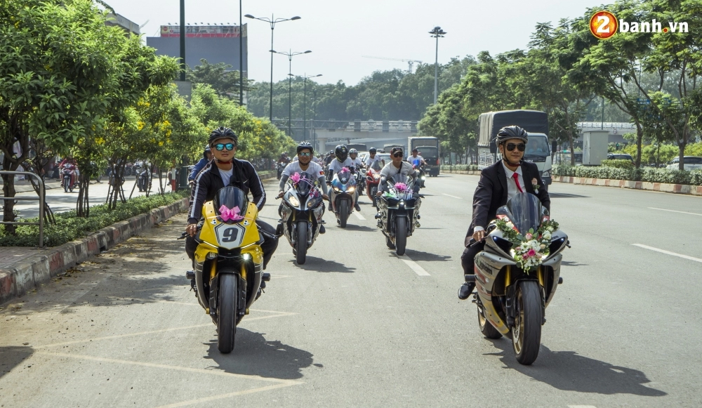
[[[263,209],[265,204],[265,190],[261,183],[256,169],[246,160],[234,159],[237,152],[238,137],[232,129],[220,127],[210,134],[208,143],[214,154],[214,159],[205,166],[195,178],[195,185],[190,193],[190,209],[187,215],[187,228],[185,232],[189,235],[185,239],[185,252],[192,260],[195,249],[197,249],[197,223],[202,214],[202,205],[206,201],[214,198],[216,192],[227,185],[232,185],[244,191],[251,192],[253,204],[256,204],[258,211]],[[256,220],[258,231],[263,237],[263,268],[278,246],[278,238],[275,235],[275,228],[260,219]]]

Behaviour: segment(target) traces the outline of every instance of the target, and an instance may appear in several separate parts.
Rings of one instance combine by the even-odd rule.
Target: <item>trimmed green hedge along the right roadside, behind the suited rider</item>
[[[702,169],[693,171],[656,169],[644,167],[642,169],[611,166],[607,162],[629,162],[628,160],[603,160],[603,166],[553,166],[554,176],[571,176],[585,178],[609,178],[611,180],[647,181],[649,183],[702,185]],[[618,165],[618,163],[616,163]]]

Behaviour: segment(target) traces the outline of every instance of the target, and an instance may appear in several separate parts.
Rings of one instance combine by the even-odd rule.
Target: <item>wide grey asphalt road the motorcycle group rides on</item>
[[[553,185],[573,247],[524,367],[456,298],[476,183],[428,180],[407,258],[385,248],[368,204],[347,230],[326,215],[305,265],[280,242],[230,355],[183,277],[185,217],[133,237],[2,305],[0,406],[702,405],[701,198]]]

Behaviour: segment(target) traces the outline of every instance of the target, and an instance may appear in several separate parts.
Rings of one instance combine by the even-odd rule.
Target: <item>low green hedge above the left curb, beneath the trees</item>
[[[92,206],[90,218],[76,216],[76,211],[55,213],[56,224],[44,225],[44,245],[59,246],[91,235],[93,232],[105,228],[119,221],[126,221],[133,216],[138,216],[159,206],[177,202],[185,197],[190,197],[190,190],[182,190],[166,195],[152,195],[150,197],[134,197],[126,203],[118,203],[117,208],[110,211],[107,205]],[[19,221],[39,222],[39,218],[27,218]],[[17,235],[6,235],[4,225],[0,225],[0,246],[37,246],[39,243],[39,225],[18,225]]]

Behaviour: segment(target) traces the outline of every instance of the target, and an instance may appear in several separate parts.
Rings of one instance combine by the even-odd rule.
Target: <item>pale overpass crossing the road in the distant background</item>
[[[382,149],[390,143],[406,145],[407,138],[417,136],[417,121],[336,121],[303,119],[273,119],[278,129],[289,132],[294,140],[307,140],[315,151],[329,151],[340,143],[364,143],[366,146]],[[636,126],[628,122],[578,122],[578,140],[583,132],[608,131],[609,143],[625,143],[624,133],[635,133]]]

